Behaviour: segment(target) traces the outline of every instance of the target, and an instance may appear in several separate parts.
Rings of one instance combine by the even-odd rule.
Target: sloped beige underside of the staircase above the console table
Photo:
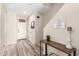
[[[51,21],[63,5],[63,3],[55,3],[52,5],[51,10],[44,14],[43,28],[45,28],[45,26]]]

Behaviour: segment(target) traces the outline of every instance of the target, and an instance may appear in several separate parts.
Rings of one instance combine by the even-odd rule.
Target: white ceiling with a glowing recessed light
[[[50,3],[7,3],[7,8],[21,16],[29,16],[33,12],[46,13],[51,9]]]

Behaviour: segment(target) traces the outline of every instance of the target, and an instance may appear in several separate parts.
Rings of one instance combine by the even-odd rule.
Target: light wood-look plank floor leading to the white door
[[[2,48],[2,56],[39,56],[38,46],[34,46],[29,40],[18,40],[16,44]]]

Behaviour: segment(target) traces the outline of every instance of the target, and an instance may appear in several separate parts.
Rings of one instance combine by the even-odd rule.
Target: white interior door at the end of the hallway
[[[18,21],[18,39],[26,38],[26,22]]]

